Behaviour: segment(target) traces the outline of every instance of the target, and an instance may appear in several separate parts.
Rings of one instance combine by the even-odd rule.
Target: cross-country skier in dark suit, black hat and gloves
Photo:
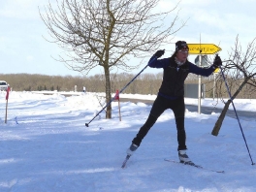
[[[194,163],[186,154],[184,80],[186,80],[189,73],[208,77],[216,68],[222,65],[222,61],[221,58],[216,55],[213,64],[208,69],[200,68],[192,64],[187,60],[189,49],[184,41],[176,42],[176,51],[171,57],[158,59],[164,53],[164,50],[157,50],[148,62],[148,66],[151,68],[164,69],[163,81],[149,116],[137,136],[133,139],[131,146],[127,149],[127,155],[131,156],[140,146],[145,135],[154,125],[157,118],[165,110],[171,109],[176,117],[178,158],[181,163],[193,165]]]

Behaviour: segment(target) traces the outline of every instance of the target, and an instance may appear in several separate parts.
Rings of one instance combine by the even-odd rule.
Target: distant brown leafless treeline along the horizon
[[[121,73],[112,74],[112,92],[122,89],[136,75]],[[134,80],[123,93],[132,94],[157,94],[162,82],[162,73],[141,74]],[[7,81],[12,90],[15,91],[74,91],[77,85],[77,91],[82,91],[83,86],[89,92],[105,92],[104,75],[94,75],[89,77],[73,76],[46,76],[39,74],[0,74],[0,80]],[[198,76],[190,74],[185,83],[198,83]],[[213,76],[203,78],[202,83],[206,84],[206,97],[213,97]],[[225,88],[225,87],[224,87]],[[245,87],[237,98],[256,99],[255,93],[248,94],[250,87]],[[224,95],[225,96],[225,95]],[[226,95],[228,98],[228,94]]]

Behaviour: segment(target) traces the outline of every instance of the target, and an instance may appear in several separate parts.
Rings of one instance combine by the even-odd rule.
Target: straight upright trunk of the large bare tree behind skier
[[[111,76],[110,76],[110,70],[108,67],[104,67],[104,71],[105,71],[105,80],[106,80],[106,86],[105,86],[106,104],[109,104],[112,100]],[[110,104],[107,107],[106,118],[112,118],[112,104]]]

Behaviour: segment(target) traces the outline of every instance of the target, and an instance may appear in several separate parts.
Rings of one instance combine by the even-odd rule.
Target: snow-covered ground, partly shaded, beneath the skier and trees
[[[11,92],[5,124],[6,93],[0,92],[0,191],[129,192],[129,191],[256,191],[256,165],[251,165],[240,126],[225,117],[218,137],[210,133],[219,113],[186,111],[188,155],[217,174],[181,164],[177,160],[176,123],[164,112],[151,128],[126,169],[126,149],[151,109],[144,103],[124,102],[121,121],[118,103],[112,119],[101,113],[104,104],[95,93],[64,97]],[[155,95],[121,94],[120,97],[154,100]],[[237,110],[256,113],[256,100],[235,101]],[[185,99],[197,105],[196,99]],[[221,102],[202,100],[202,106]],[[232,106],[230,108],[232,110]],[[256,116],[256,115],[255,115]],[[256,118],[240,120],[253,162],[256,161]]]

